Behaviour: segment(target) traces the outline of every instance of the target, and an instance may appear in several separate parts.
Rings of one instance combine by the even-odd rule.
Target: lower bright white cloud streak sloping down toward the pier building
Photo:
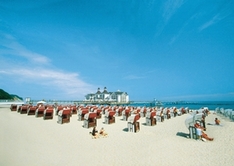
[[[57,89],[59,93],[62,92],[64,95],[69,95],[70,98],[83,98],[85,94],[94,90],[91,84],[81,80],[76,73],[41,68],[32,70],[22,67],[19,69],[0,70],[0,73],[17,78],[17,81],[25,82],[35,87],[42,85],[51,87],[51,89]]]

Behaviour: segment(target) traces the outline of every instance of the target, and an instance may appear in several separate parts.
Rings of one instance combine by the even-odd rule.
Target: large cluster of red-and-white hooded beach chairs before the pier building
[[[189,112],[188,108],[157,108],[157,107],[131,107],[131,106],[62,106],[62,105],[12,105],[12,111],[20,114],[35,115],[43,119],[53,119],[54,114],[59,124],[69,123],[70,117],[77,114],[78,121],[83,121],[84,128],[97,126],[97,119],[104,118],[105,124],[115,123],[116,117],[121,117],[127,122],[128,131],[140,131],[140,118],[145,118],[147,126],[155,126],[157,122],[180,116]]]

